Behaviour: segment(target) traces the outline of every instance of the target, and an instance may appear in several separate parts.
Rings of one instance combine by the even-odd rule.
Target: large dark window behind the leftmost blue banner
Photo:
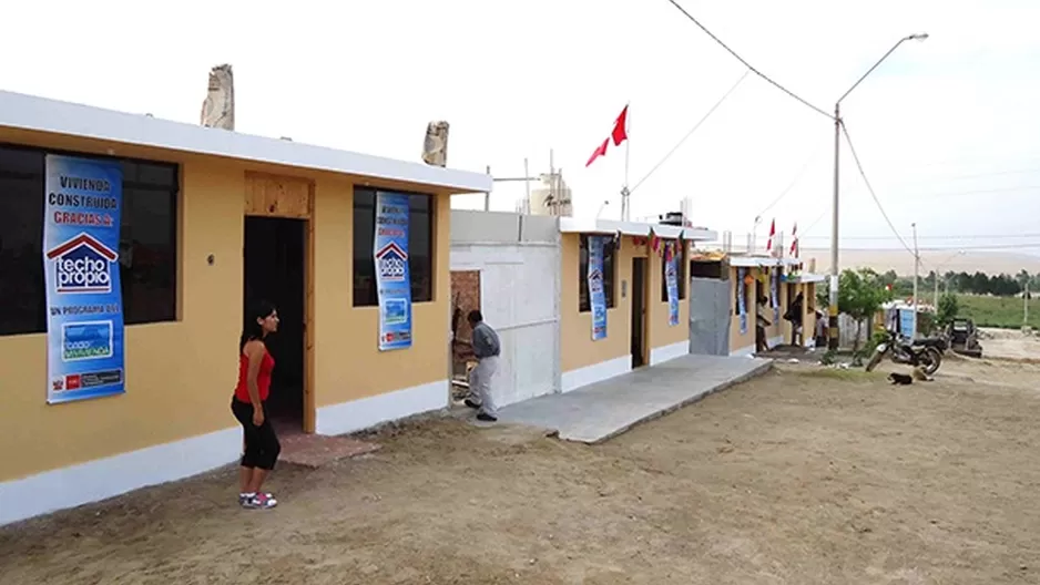
[[[0,336],[47,331],[45,154],[39,148],[0,144]],[[123,322],[174,321],[180,168],[169,163],[116,160],[123,167],[119,246]]]

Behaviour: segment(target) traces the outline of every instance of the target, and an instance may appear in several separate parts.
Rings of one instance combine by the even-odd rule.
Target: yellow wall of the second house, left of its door
[[[632,258],[645,257],[645,246],[636,248],[632,237],[621,238],[614,269],[614,308],[606,310],[606,338],[592,340],[592,312],[578,312],[578,234],[561,234],[560,340],[561,370],[564,372],[631,355]],[[660,270],[660,267],[657,268]],[[653,281],[653,269],[648,267]],[[660,276],[659,276],[660,278]],[[622,296],[622,281],[628,294]],[[654,290],[648,290],[652,295]],[[659,291],[660,294],[660,291]],[[653,298],[650,297],[652,304]]]

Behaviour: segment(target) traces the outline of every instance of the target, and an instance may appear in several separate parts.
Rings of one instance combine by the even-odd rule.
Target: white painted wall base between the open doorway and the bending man
[[[385,394],[322,407],[317,412],[318,434],[345,434],[422,412],[448,408],[448,380],[414,386]]]

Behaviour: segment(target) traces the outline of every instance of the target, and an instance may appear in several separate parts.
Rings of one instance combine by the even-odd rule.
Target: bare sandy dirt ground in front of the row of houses
[[[3,584],[1040,583],[1040,366],[783,366],[603,445],[436,419],[0,528]]]

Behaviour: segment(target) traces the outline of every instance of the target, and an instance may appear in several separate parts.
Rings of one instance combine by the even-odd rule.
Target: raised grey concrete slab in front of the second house
[[[764,373],[771,360],[684,356],[565,394],[499,410],[499,421],[558,431],[560,439],[600,443],[712,392]]]

